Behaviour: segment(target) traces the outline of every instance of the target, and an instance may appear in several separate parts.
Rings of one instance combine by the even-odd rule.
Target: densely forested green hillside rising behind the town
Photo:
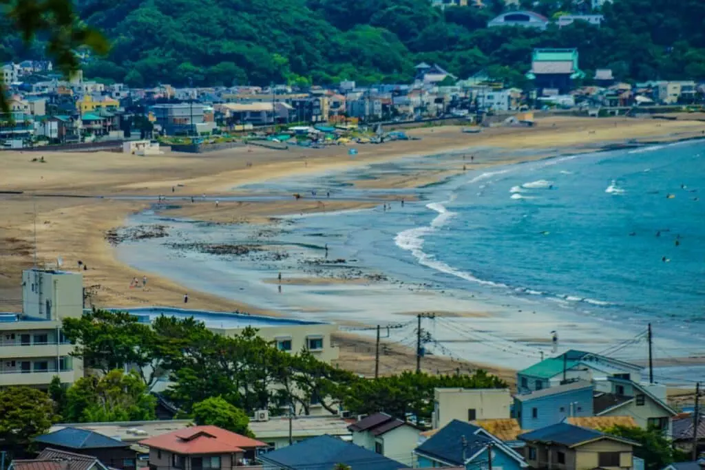
[[[467,78],[486,69],[522,85],[533,47],[578,47],[580,68],[613,68],[623,80],[705,79],[704,0],[615,0],[598,28],[547,31],[487,28],[503,9],[429,0],[77,0],[82,18],[113,43],[85,68],[91,77],[132,86],[326,84],[410,80],[419,61]],[[495,1],[496,3],[492,3]],[[575,8],[539,0],[525,7],[551,17]],[[0,60],[24,58],[13,37]]]

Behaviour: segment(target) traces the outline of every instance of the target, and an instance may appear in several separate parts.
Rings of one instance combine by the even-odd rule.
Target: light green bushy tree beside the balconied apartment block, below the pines
[[[87,376],[66,392],[65,421],[104,422],[156,419],[157,399],[149,395],[137,373],[116,369],[105,376]]]

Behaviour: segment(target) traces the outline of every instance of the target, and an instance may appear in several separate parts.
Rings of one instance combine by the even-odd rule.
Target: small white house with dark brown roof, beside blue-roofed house
[[[419,440],[419,429],[386,413],[375,413],[350,424],[353,444],[373,450],[385,457],[412,462],[414,448]]]

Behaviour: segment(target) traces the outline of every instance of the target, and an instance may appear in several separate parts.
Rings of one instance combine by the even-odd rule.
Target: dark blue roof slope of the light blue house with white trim
[[[476,454],[492,442],[484,435],[475,434],[479,429],[478,426],[454,419],[422,445],[416,447],[416,451],[448,464],[465,466],[462,459],[463,436],[467,446],[465,447],[466,457]]]

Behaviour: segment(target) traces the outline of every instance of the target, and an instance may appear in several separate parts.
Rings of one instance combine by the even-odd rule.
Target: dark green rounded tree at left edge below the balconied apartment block
[[[0,390],[0,443],[13,454],[25,452],[53,421],[54,403],[46,393],[29,387]]]

